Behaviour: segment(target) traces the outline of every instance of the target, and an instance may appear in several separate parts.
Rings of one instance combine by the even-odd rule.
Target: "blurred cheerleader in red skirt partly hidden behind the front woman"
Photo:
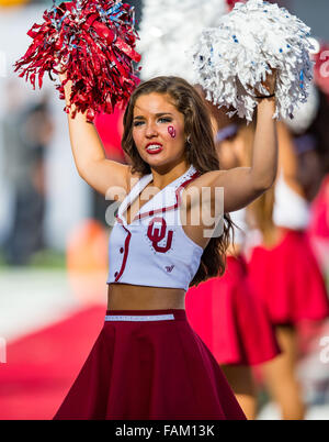
[[[237,139],[242,120],[230,120],[223,111],[208,106],[213,126],[218,129],[215,140],[220,166],[225,169],[242,166],[245,146]],[[254,419],[257,386],[252,365],[272,360],[280,349],[262,301],[253,295],[248,281],[243,257],[246,209],[231,212],[230,218],[236,228],[225,274],[189,290],[186,314],[220,364],[245,415]]]

